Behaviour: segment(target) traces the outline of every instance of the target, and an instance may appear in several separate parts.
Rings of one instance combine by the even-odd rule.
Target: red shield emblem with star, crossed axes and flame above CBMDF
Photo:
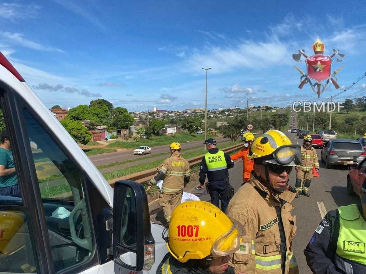
[[[306,83],[309,83],[315,94],[318,94],[318,98],[320,98],[320,94],[322,94],[326,87],[329,84],[329,81],[335,86],[335,88],[339,88],[337,74],[343,68],[343,65],[336,69],[333,73],[331,73],[331,65],[333,62],[333,57],[337,56],[337,62],[343,61],[343,58],[346,54],[341,54],[340,50],[333,49],[333,54],[331,56],[323,55],[324,53],[324,43],[318,37],[314,44],[313,50],[315,55],[307,56],[305,54],[305,50],[299,49],[299,53],[292,54],[292,58],[296,62],[301,62],[301,56],[305,57],[306,63],[306,73],[303,72],[297,66],[294,66],[302,75],[300,77],[300,85],[299,88],[303,88]],[[325,84],[324,82],[325,81]],[[323,83],[322,83],[323,82]]]

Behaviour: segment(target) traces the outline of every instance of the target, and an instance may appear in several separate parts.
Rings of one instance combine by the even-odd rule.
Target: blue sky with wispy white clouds
[[[298,89],[293,65],[305,63],[292,53],[312,54],[318,36],[325,54],[346,53],[332,65],[344,65],[343,88],[365,73],[365,1],[252,2],[1,2],[0,51],[46,106],[64,108],[97,98],[129,111],[204,108],[202,67],[212,67],[209,109],[246,107],[246,96],[255,106],[317,100],[309,85]]]

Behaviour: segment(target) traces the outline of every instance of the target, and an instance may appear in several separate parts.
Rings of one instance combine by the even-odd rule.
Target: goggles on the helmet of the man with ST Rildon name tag
[[[280,165],[288,165],[292,161],[296,165],[301,164],[301,146],[300,145],[283,145],[277,148],[269,155],[262,156],[258,160],[275,160]]]

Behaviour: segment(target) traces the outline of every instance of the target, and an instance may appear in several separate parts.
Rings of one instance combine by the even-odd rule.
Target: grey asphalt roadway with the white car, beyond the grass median
[[[223,141],[227,141],[227,139],[224,139],[224,138],[216,139],[216,142],[218,142],[218,143],[223,142]],[[180,145],[182,146],[182,149],[185,149],[185,148],[191,148],[193,146],[197,146],[199,144],[202,144],[202,148],[203,148],[203,140],[181,143]],[[141,145],[144,145],[143,142],[141,143]],[[151,154],[169,152],[169,145],[152,146],[151,148],[152,148]],[[133,151],[134,151],[134,149],[126,149],[126,150],[118,151],[118,152],[102,153],[102,154],[98,154],[98,155],[91,155],[91,156],[89,156],[89,159],[93,162],[94,165],[98,166],[98,165],[110,164],[110,163],[115,163],[115,162],[120,162],[120,161],[125,161],[125,160],[131,160],[131,159],[135,159],[135,158],[141,158],[141,157],[149,155],[149,154],[134,155]]]

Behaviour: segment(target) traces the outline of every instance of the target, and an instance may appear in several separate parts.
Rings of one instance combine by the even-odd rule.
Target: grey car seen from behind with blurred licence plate
[[[320,159],[325,168],[332,165],[356,165],[366,157],[361,143],[352,139],[332,139],[321,151]]]

